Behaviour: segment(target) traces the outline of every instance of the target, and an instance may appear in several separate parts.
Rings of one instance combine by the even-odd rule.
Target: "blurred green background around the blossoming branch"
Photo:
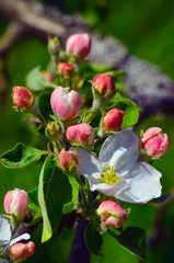
[[[68,13],[80,13],[93,24],[93,30],[100,30],[104,35],[119,38],[129,49],[141,59],[158,65],[161,70],[174,79],[174,1],[173,0],[39,0],[49,5],[55,4]],[[5,30],[7,21],[0,18],[0,34]],[[35,38],[23,38],[11,48],[7,56],[7,71],[9,78],[8,101],[0,111],[0,153],[13,148],[18,141],[30,146],[42,147],[42,139],[34,136],[34,127],[23,122],[23,115],[12,110],[11,89],[13,85],[24,85],[25,75],[37,65],[44,69],[49,60],[47,47]],[[148,80],[147,80],[148,81]],[[163,161],[156,161],[154,167],[162,172],[163,193],[171,193],[174,188],[174,125],[173,118],[158,115],[150,116],[138,126],[147,129],[160,126],[171,138],[169,152]],[[40,162],[21,170],[9,170],[0,165],[0,213],[3,213],[3,197],[7,191],[14,187],[26,191],[38,183]],[[147,238],[153,231],[158,206],[131,205],[131,213],[127,226],[138,226],[147,230]],[[166,236],[155,251],[148,251],[149,262],[172,262],[174,243],[174,204],[169,206],[164,228]],[[60,236],[40,244],[40,231],[33,235],[36,242],[36,253],[26,262],[67,263],[73,238],[73,229],[65,229]],[[125,251],[117,241],[107,233],[103,236],[104,244],[101,256],[92,256],[92,263],[134,263],[138,260]]]

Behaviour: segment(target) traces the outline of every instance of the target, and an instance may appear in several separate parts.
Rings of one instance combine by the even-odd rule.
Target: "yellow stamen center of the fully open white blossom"
[[[102,173],[101,183],[113,185],[118,183],[120,179],[121,178],[118,178],[114,172],[114,167],[106,167],[106,171]]]

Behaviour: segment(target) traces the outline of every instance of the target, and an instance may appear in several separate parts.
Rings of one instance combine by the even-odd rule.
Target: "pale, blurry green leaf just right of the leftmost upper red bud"
[[[56,84],[48,82],[43,77],[43,75],[39,71],[39,67],[32,69],[26,75],[25,82],[26,82],[26,87],[35,92],[40,92],[40,91],[49,89],[49,88],[55,89],[57,87]]]

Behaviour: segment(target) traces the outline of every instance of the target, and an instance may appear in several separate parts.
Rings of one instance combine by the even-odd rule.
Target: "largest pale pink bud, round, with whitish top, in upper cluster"
[[[82,99],[74,90],[69,92],[69,88],[57,87],[51,93],[50,104],[61,119],[74,119],[81,111]]]

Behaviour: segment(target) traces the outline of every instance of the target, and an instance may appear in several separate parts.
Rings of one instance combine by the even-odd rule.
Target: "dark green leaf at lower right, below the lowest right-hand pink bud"
[[[115,237],[124,249],[137,258],[146,259],[146,231],[138,227],[128,227]]]

